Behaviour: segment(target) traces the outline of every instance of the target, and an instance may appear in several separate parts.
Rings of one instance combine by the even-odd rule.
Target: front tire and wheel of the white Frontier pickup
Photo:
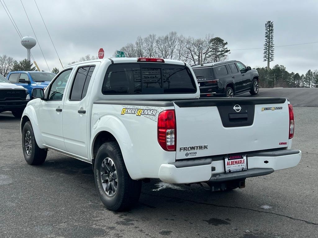
[[[30,147],[30,142],[31,142],[31,147]],[[29,147],[27,145],[29,145]],[[22,129],[22,150],[23,150],[24,159],[28,164],[31,164],[31,165],[43,164],[46,159],[47,149],[41,149],[38,147],[38,144],[35,141],[31,122],[26,122]]]

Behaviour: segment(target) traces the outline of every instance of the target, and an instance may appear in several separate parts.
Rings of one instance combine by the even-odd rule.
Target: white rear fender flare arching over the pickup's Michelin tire
[[[129,133],[124,126],[124,124],[121,122],[121,120],[113,115],[106,115],[100,117],[100,120],[96,126],[95,129],[92,130],[92,139],[90,144],[90,154],[91,158],[93,158],[93,147],[96,137],[100,132],[109,132],[112,134],[116,141],[119,144],[119,147],[121,149],[122,156],[124,158],[124,162],[128,171],[128,174],[132,179],[140,177],[141,174],[141,166],[139,166],[138,156],[136,155],[133,143],[131,141],[131,138],[129,136]]]

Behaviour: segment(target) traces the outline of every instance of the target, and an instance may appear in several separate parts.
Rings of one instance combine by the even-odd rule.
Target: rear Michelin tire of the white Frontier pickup
[[[111,168],[108,169],[108,167]],[[117,182],[113,179],[115,174]],[[138,202],[142,182],[133,180],[129,176],[117,142],[106,142],[100,146],[95,159],[94,176],[98,196],[109,210],[125,211]],[[102,180],[102,176],[104,180]],[[114,186],[108,186],[110,189],[107,191],[108,183],[113,183]],[[115,188],[114,194],[113,188]]]

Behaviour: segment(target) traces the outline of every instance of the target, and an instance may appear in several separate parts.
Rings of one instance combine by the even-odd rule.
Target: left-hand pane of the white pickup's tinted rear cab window
[[[141,74],[139,64],[114,64],[107,69],[103,94],[141,93]]]

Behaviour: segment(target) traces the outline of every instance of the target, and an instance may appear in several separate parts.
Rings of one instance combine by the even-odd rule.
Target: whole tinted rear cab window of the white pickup
[[[189,69],[160,63],[110,65],[102,86],[103,94],[177,94],[196,91]]]

